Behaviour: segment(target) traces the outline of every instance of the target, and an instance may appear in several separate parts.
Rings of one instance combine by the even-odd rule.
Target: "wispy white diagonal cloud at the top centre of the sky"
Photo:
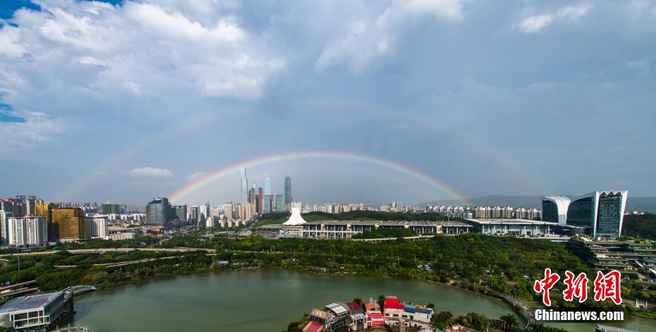
[[[345,62],[356,72],[361,71],[377,56],[391,50],[401,25],[408,20],[428,17],[455,22],[464,15],[461,0],[394,0],[377,18],[348,23],[344,35],[327,42],[315,61],[315,68],[322,71]]]

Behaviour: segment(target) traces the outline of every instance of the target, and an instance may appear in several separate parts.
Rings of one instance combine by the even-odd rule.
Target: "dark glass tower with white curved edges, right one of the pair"
[[[617,238],[627,197],[627,190],[595,191],[576,197],[569,204],[567,225],[583,227],[593,238]]]

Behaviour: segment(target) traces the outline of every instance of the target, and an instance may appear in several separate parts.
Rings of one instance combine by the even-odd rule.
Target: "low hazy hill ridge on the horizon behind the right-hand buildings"
[[[573,198],[572,195],[566,195]],[[542,209],[542,196],[537,195],[487,195],[470,199],[476,205],[490,207],[526,207]],[[418,204],[420,207],[426,205],[462,205],[458,199],[442,199],[437,201],[423,202]],[[626,201],[626,211],[645,211],[656,213],[656,197],[631,197],[628,195]]]

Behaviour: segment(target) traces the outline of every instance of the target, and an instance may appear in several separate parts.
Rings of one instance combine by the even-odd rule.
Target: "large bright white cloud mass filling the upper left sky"
[[[190,100],[260,99],[285,65],[212,1],[38,2],[0,27],[0,103],[15,109],[162,120]]]

